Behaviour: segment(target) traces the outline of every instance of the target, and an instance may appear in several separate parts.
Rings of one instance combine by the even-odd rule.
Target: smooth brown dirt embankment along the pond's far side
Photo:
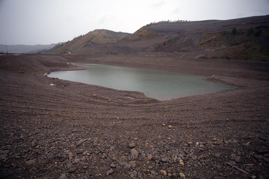
[[[72,62],[145,68],[206,76],[268,80],[269,63],[150,55],[73,55]],[[238,81],[237,84],[239,84]]]

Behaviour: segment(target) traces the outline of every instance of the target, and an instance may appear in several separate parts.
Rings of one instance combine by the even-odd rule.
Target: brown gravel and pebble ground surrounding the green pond
[[[68,62],[214,74],[207,80],[239,88],[160,102],[44,76],[83,69]],[[268,178],[268,66],[150,56],[0,56],[0,177]]]

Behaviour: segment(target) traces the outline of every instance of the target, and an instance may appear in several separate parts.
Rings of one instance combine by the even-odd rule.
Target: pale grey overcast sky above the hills
[[[269,0],[0,0],[0,44],[51,44],[95,29],[133,33],[161,20],[269,14]]]

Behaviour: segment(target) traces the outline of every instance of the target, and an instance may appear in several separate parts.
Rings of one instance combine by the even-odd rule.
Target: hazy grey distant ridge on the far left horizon
[[[29,53],[29,52],[36,53],[39,50],[51,49],[55,45],[56,43],[52,43],[49,45],[40,45],[40,44],[38,45],[7,45],[7,48],[8,48],[8,53]],[[0,45],[0,51],[2,53],[6,53],[6,45]]]

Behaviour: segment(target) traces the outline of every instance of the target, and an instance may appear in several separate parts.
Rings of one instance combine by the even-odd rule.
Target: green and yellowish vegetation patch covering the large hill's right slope
[[[198,47],[216,47],[215,51],[225,52],[222,56],[210,57],[212,59],[268,61],[269,27],[240,28],[234,34],[232,31],[205,33]]]

